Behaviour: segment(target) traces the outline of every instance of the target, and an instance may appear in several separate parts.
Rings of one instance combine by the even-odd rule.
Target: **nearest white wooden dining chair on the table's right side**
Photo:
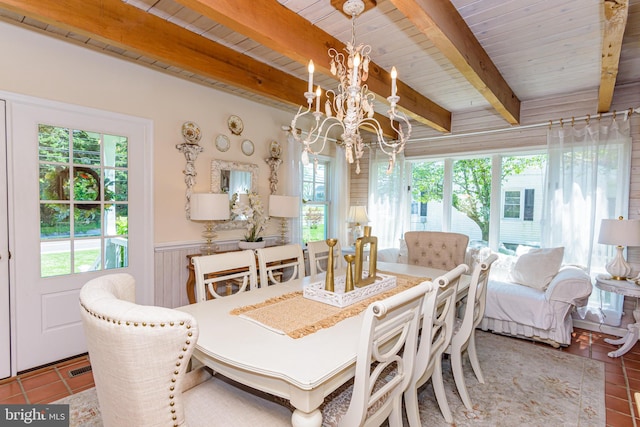
[[[353,382],[334,392],[322,407],[323,426],[402,426],[402,394],[416,362],[420,317],[425,301],[436,299],[425,281],[367,307]]]

